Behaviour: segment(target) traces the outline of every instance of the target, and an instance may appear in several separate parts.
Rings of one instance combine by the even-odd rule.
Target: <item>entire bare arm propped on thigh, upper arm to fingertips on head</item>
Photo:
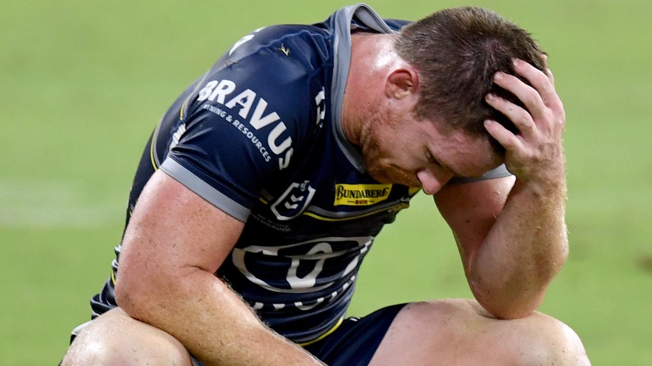
[[[435,196],[458,242],[473,295],[497,318],[531,314],[568,255],[564,109],[550,70],[520,60],[514,65],[532,86],[503,72],[494,82],[525,108],[497,96],[486,101],[519,133],[485,122],[506,149],[505,163],[516,176],[513,186],[513,178],[484,180],[446,186]]]

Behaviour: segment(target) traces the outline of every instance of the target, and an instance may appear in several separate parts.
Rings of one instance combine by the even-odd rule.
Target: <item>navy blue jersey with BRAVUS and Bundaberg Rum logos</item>
[[[344,137],[351,31],[392,33],[407,23],[353,5],[323,23],[263,27],[241,38],[156,127],[127,221],[162,169],[246,223],[216,274],[265,323],[298,343],[333,329],[374,237],[419,190],[374,180]],[[115,275],[117,258],[91,301],[96,314],[115,306]]]

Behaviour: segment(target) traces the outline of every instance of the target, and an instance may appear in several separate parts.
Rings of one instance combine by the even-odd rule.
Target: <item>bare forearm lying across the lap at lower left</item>
[[[149,289],[121,292],[119,305],[131,317],[170,333],[204,365],[323,365],[269,330],[237,294],[200,268],[188,268],[166,287]]]

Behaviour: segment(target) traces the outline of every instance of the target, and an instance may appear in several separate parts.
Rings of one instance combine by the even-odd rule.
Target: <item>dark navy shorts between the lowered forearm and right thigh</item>
[[[329,366],[366,366],[405,305],[383,307],[363,318],[346,318],[333,333],[304,349]],[[192,364],[202,366],[195,358]]]

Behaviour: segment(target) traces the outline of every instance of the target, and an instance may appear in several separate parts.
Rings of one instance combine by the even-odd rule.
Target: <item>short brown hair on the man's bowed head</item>
[[[492,77],[497,71],[516,74],[512,58],[540,70],[546,68],[544,52],[529,33],[495,12],[477,7],[430,14],[404,27],[394,48],[419,72],[422,90],[415,117],[443,119],[447,126],[475,136],[486,134],[485,119],[518,131],[511,120],[484,101],[492,92],[522,106],[513,94],[494,85]]]

